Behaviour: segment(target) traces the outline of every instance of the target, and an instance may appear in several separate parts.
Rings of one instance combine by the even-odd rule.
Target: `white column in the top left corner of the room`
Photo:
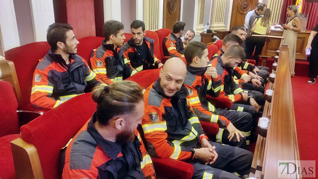
[[[13,0],[0,0],[0,39],[2,51],[20,46]]]

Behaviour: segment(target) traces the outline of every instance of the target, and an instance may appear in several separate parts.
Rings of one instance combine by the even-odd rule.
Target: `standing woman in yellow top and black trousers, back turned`
[[[264,17],[259,18],[259,20],[255,20],[253,23],[253,28],[251,29],[251,38],[246,44],[246,59],[251,59],[251,55],[254,52],[254,60],[256,61],[256,65],[259,61],[259,54],[262,52],[263,47],[265,45],[265,37],[255,37],[253,35],[268,35],[270,33],[271,28],[271,10],[266,9],[263,13]]]

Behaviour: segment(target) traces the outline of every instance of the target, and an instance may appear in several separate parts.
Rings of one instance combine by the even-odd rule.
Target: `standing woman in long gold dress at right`
[[[297,43],[297,32],[301,32],[301,24],[299,19],[299,12],[295,5],[290,5],[287,7],[287,19],[286,24],[283,24],[282,27],[275,26],[275,28],[280,28],[284,31],[284,39],[280,42],[280,47],[282,44],[288,45],[289,48],[289,68],[290,75],[295,76],[295,58],[296,58],[296,43]]]

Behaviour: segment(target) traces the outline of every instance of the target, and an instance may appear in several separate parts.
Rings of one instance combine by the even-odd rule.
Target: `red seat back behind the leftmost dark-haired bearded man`
[[[23,104],[19,104],[20,109],[28,104],[31,105],[30,97],[33,73],[39,60],[48,53],[50,48],[47,42],[33,42],[4,52],[5,59],[13,61],[16,68],[23,98]]]

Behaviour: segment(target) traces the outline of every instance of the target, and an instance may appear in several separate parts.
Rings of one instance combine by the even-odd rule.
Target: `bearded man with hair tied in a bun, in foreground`
[[[62,178],[156,177],[137,126],[144,114],[140,86],[131,81],[95,87],[97,109],[61,152]]]

